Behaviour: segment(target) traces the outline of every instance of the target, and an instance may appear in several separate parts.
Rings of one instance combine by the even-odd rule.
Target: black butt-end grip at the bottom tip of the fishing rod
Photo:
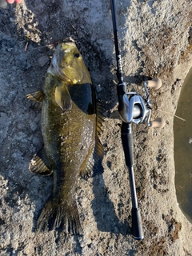
[[[132,234],[136,240],[142,240],[144,238],[142,218],[138,208],[132,208]]]

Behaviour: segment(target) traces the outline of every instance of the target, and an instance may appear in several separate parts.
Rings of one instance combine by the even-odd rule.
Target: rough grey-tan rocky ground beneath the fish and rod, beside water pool
[[[116,1],[122,66],[128,89],[161,78],[151,91],[152,119],[162,130],[133,126],[135,182],[145,238],[130,234],[131,198],[117,112],[110,1],[26,0],[0,10],[0,255],[191,255],[192,226],[174,188],[174,114],[191,61],[191,1]],[[1,1],[2,5],[2,1]],[[42,146],[41,111],[26,94],[40,90],[55,42],[74,38],[105,103],[100,138],[104,173],[79,178],[82,236],[34,232],[52,178],[28,171]]]

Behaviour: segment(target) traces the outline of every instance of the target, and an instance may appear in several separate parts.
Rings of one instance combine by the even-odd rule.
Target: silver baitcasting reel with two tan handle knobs
[[[119,84],[118,86],[124,86],[125,84]],[[123,122],[136,124],[146,123],[149,127],[162,128],[165,126],[165,121],[162,118],[157,118],[154,121],[150,121],[151,115],[151,102],[150,93],[147,87],[158,90],[162,86],[162,81],[159,78],[154,78],[146,82],[142,82],[143,96],[137,92],[127,92],[126,94],[120,94],[118,111]]]

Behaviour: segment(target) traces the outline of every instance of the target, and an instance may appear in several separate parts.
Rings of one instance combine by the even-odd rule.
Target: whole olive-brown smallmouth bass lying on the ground
[[[102,144],[94,87],[73,42],[59,43],[42,91],[28,94],[42,102],[44,146],[30,161],[34,174],[54,176],[53,193],[38,217],[37,230],[62,228],[82,232],[75,190],[79,174],[90,174],[102,162]]]

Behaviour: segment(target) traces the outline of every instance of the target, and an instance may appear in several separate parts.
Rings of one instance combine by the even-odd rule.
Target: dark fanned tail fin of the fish
[[[81,234],[82,226],[76,202],[57,202],[50,198],[38,217],[37,231],[62,229],[66,234]]]

